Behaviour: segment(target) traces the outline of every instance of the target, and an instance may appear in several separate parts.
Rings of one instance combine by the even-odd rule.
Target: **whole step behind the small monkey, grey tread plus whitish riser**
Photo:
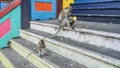
[[[120,67],[120,52],[109,48],[84,44],[58,36],[48,38],[51,34],[32,29],[21,30],[20,36],[35,44],[44,39],[47,49],[89,68]]]

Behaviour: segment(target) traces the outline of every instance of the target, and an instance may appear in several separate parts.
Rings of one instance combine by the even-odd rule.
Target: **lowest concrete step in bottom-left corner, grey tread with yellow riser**
[[[36,68],[33,64],[15,52],[12,48],[1,49],[0,59],[5,68]]]

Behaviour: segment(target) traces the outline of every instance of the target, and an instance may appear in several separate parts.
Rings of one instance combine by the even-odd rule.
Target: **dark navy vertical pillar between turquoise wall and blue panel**
[[[21,0],[21,28],[29,29],[31,20],[31,0]]]

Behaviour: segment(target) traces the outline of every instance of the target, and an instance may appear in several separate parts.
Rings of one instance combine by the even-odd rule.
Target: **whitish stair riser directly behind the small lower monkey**
[[[33,35],[31,33],[24,33],[22,31],[20,35],[22,38],[29,40],[35,44],[38,44],[38,41],[40,39],[43,39],[42,36]],[[116,64],[116,62],[114,62],[116,60],[111,61],[109,59],[103,58],[102,55],[97,56],[95,54],[88,53],[89,51],[85,52],[82,49],[74,48],[61,42],[45,39],[45,44],[47,49],[69,59],[72,59],[80,64],[88,66],[89,68],[118,68],[116,65],[119,66]]]

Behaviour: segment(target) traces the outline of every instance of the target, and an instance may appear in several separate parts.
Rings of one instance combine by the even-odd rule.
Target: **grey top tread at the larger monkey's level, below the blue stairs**
[[[35,21],[33,21],[35,22]],[[53,25],[59,25],[57,20],[46,20],[46,21],[36,21],[37,23],[47,23]],[[87,27],[78,27],[79,25],[85,25]],[[77,28],[91,29],[103,32],[117,33],[120,34],[120,25],[119,24],[107,24],[107,23],[99,23],[99,22],[89,22],[89,21],[77,21],[74,24]],[[108,27],[109,26],[109,27]]]

